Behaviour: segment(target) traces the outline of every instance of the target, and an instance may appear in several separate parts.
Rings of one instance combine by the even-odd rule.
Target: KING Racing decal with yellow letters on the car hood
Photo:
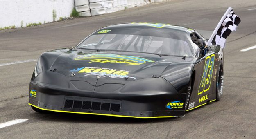
[[[101,67],[81,67],[77,69],[70,70],[70,72],[77,72],[77,73],[84,73],[84,76],[88,75],[95,75],[95,76],[102,76],[102,77],[110,77],[110,78],[133,78],[127,74],[129,71],[125,70],[117,70],[117,69],[109,69],[109,68],[101,68]]]

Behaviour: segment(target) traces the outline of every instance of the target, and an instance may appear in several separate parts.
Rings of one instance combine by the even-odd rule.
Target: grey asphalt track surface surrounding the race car
[[[186,112],[183,118],[134,119],[79,114],[39,114],[28,105],[29,81],[42,52],[72,47],[101,27],[121,22],[161,22],[203,30],[215,28],[227,7],[242,22],[224,49],[221,101]],[[249,9],[249,10],[248,10]],[[207,34],[206,34],[207,36]],[[255,138],[255,0],[176,0],[117,13],[0,31],[0,138]]]

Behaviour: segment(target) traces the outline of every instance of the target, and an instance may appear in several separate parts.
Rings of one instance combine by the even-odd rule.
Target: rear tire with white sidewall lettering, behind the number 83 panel
[[[217,81],[216,81],[216,101],[220,101],[222,97],[223,84],[224,84],[224,71],[223,71],[222,60],[220,60],[219,70],[217,72]]]

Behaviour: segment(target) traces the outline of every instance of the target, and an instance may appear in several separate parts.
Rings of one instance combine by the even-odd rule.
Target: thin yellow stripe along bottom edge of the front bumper
[[[66,112],[66,113],[76,113],[76,114],[91,114],[91,115],[104,115],[104,116],[112,116],[112,117],[130,117],[130,118],[169,118],[169,117],[174,117],[174,116],[159,116],[159,117],[135,117],[135,116],[124,116],[124,115],[114,115],[114,114],[99,114],[99,113],[87,113],[87,112],[70,112],[70,111],[62,111],[62,110],[50,110],[50,109],[44,109],[37,107],[33,104],[28,103],[28,105],[31,105],[33,107],[36,107],[41,110],[47,110],[47,111],[52,111],[52,112]]]

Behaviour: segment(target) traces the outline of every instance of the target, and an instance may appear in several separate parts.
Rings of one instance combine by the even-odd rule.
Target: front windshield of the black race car
[[[193,56],[184,33],[150,29],[100,30],[86,38],[77,48]]]

